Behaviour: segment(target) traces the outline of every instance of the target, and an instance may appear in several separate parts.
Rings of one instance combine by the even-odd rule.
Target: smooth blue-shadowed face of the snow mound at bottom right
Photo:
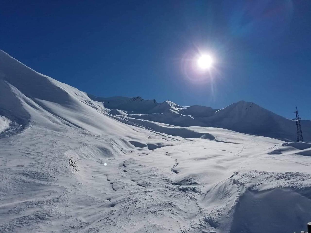
[[[300,232],[311,217],[311,200],[285,188],[247,190],[236,208],[230,233]]]

